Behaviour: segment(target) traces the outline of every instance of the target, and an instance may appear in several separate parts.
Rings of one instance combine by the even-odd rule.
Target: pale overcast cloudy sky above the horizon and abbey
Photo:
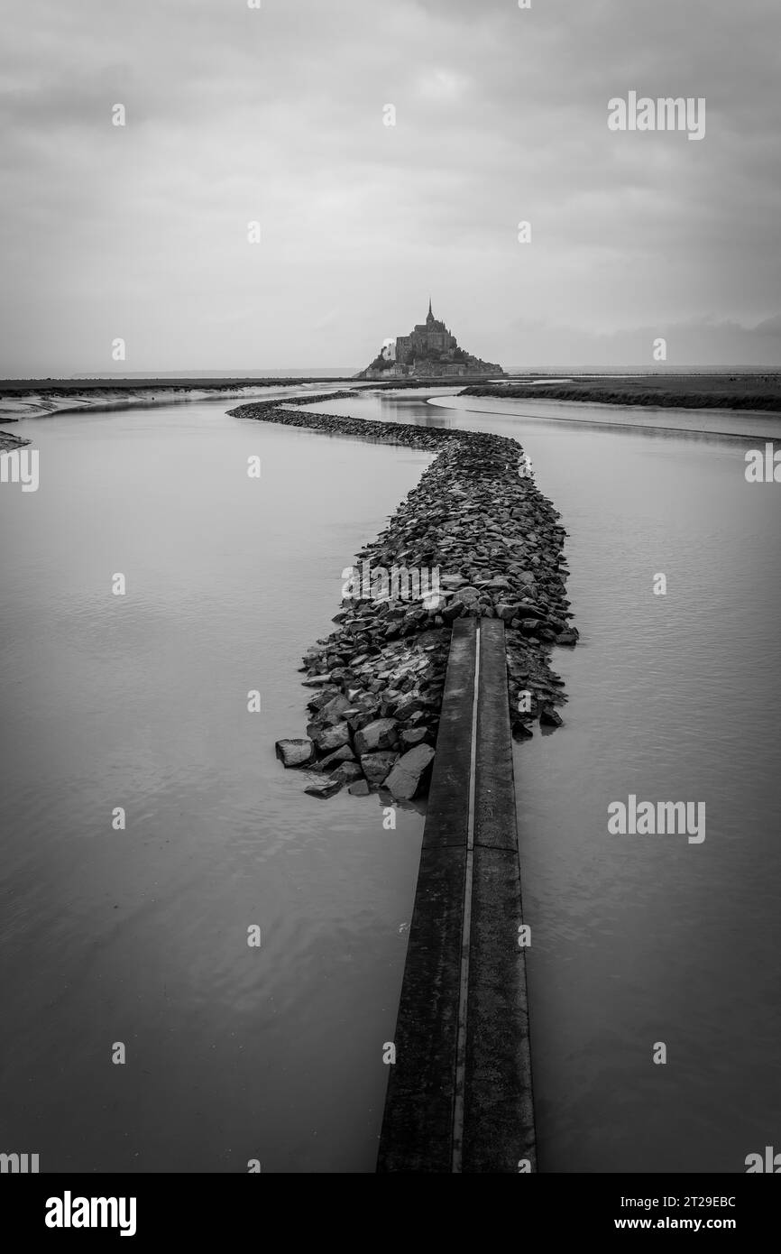
[[[1,45],[0,375],[360,369],[429,292],[505,366],[781,366],[778,0],[6,0]],[[631,90],[705,138],[609,130]]]

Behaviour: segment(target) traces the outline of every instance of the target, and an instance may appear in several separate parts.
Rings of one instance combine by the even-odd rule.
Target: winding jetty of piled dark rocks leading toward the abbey
[[[351,395],[345,393],[342,395]],[[300,405],[323,398],[307,396]],[[333,396],[328,396],[332,400]],[[236,418],[282,423],[436,453],[356,571],[436,572],[402,589],[356,581],[336,631],[303,658],[311,691],[306,739],[277,741],[290,767],[313,772],[313,796],[387,791],[409,801],[427,788],[436,749],[451,624],[501,618],[513,732],[562,724],[553,645],[574,645],[565,597],[565,530],[525,474],[516,440],[475,431],[374,423],[302,411],[293,403],[241,405]],[[321,776],[317,779],[317,776]]]

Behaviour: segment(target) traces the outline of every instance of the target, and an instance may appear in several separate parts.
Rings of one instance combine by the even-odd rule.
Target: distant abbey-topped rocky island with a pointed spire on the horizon
[[[444,322],[434,317],[431,301],[425,322],[410,335],[386,340],[375,360],[356,379],[443,379],[466,375],[470,379],[504,374],[495,361],[483,361],[459,349],[458,340]]]

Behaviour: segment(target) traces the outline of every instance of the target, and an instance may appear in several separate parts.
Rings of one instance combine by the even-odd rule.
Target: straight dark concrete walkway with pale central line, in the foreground
[[[537,1170],[504,623],[456,619],[379,1171]]]

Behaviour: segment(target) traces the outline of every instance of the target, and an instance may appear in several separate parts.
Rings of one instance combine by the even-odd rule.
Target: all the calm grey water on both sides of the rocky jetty
[[[540,1167],[742,1171],[781,1125],[781,488],[728,434],[475,400],[317,409],[515,435],[570,533],[565,727],[515,750]],[[41,488],[0,489],[0,1097],[44,1170],[374,1167],[421,820],[311,801],[270,745],[429,458],[223,409],[20,423]],[[629,793],[705,800],[705,843],[608,836]]]

